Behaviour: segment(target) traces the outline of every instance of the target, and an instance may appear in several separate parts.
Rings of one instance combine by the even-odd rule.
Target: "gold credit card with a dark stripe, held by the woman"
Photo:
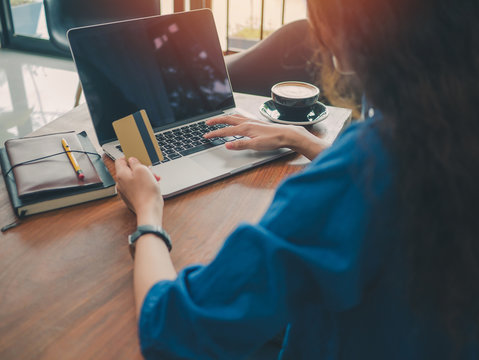
[[[158,164],[163,160],[145,110],[114,121],[113,129],[127,159],[135,157],[146,166]]]

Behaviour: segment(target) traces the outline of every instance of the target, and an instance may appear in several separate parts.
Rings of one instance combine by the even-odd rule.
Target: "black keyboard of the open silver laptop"
[[[155,134],[158,145],[163,154],[163,161],[165,163],[171,160],[179,159],[182,156],[191,155],[203,150],[210,149],[215,146],[222,145],[228,141],[241,139],[243,136],[227,136],[223,138],[205,139],[204,134],[227,127],[227,124],[217,124],[208,126],[204,121],[194,124],[185,125],[180,128],[168,130],[159,134]],[[116,148],[120,151],[121,146]]]

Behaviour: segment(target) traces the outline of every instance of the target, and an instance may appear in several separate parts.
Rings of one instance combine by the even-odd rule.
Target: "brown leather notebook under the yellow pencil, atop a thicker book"
[[[70,149],[85,176],[83,180],[78,178],[68,159],[62,147],[62,139],[65,139],[70,145]],[[7,140],[5,150],[13,168],[13,176],[20,198],[78,187],[102,185],[102,181],[88,155],[75,152],[75,150],[83,151],[75,132]],[[35,160],[42,157],[46,158]]]

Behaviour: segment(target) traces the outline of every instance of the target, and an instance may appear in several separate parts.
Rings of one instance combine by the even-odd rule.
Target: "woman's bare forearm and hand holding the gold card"
[[[159,225],[163,219],[163,197],[158,179],[137,159],[115,162],[117,189],[123,201],[135,212],[137,225]],[[139,317],[148,290],[160,280],[176,278],[176,271],[162,239],[145,234],[136,242],[134,291]]]

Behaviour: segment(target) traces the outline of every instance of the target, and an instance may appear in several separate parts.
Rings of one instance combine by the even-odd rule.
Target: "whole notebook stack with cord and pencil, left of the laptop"
[[[68,141],[72,151],[84,150],[96,154],[74,153],[84,172],[84,180],[77,178],[66,153],[62,151],[62,138]],[[12,169],[15,164],[24,165]],[[0,166],[12,207],[19,217],[116,194],[115,181],[85,132],[8,140],[5,148],[0,149]]]

